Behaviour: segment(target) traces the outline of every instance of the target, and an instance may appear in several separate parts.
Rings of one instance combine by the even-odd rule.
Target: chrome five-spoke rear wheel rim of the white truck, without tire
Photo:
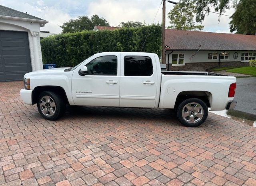
[[[202,105],[192,102],[185,105],[182,109],[182,118],[188,123],[196,123],[204,116]]]

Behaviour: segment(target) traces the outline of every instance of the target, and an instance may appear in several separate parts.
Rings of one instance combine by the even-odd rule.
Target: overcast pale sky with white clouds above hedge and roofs
[[[178,0],[173,0],[178,2]],[[0,4],[14,10],[27,12],[47,20],[41,30],[51,33],[60,33],[59,25],[78,16],[92,16],[97,14],[104,17],[110,26],[117,26],[120,22],[140,21],[152,24],[161,0],[0,0]],[[166,14],[174,5],[166,2]],[[227,10],[224,14],[232,15],[234,9]],[[162,5],[154,23],[162,22]],[[230,19],[228,16],[221,16],[218,21],[218,14],[210,13],[206,16],[202,25],[205,32],[230,33]],[[169,26],[166,15],[166,26]]]

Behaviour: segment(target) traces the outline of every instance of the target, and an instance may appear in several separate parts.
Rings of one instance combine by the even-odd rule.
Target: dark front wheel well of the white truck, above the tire
[[[55,92],[64,99],[66,104],[69,104],[65,90],[59,86],[39,86],[39,87],[34,88],[34,90],[32,91],[32,104],[37,103],[38,97],[39,97],[40,93],[43,91]]]

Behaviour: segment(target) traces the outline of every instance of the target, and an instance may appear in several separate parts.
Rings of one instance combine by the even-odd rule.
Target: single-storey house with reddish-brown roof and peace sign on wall
[[[256,59],[256,36],[171,29],[165,33],[169,70],[248,66],[250,59]]]

